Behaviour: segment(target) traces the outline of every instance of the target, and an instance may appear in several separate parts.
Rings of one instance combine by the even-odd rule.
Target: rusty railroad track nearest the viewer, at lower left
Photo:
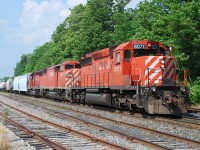
[[[15,110],[15,112],[9,110],[9,116],[0,113],[4,120],[9,123],[8,127],[14,131],[14,133],[18,132],[18,135],[20,135],[19,137],[28,140],[29,144],[36,148],[58,150],[127,149],[89,134],[77,132],[71,128],[41,119],[15,107],[6,106]],[[4,111],[2,107],[0,110],[1,112]],[[18,113],[16,113],[16,111],[18,111]]]

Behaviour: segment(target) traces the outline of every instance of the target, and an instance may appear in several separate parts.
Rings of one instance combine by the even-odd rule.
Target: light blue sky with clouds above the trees
[[[132,0],[135,8],[141,0]],[[70,8],[87,0],[0,0],[0,78],[12,77],[23,54],[50,41]]]

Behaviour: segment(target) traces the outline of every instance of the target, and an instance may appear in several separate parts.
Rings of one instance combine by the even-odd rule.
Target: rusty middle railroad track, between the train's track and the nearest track
[[[14,98],[16,98],[16,97],[14,97]],[[20,97],[20,100],[22,100],[22,97]],[[108,119],[108,118],[105,118],[105,117],[100,117],[100,116],[92,115],[92,114],[88,114],[88,113],[83,113],[83,112],[80,112],[78,110],[72,110],[72,109],[60,107],[60,106],[57,106],[57,105],[54,105],[53,107],[57,107],[57,108],[55,108],[56,110],[58,110],[58,108],[59,108],[60,111],[55,111],[52,108],[49,108],[49,107],[52,107],[52,104],[51,104],[51,106],[47,107],[47,105],[49,105],[48,103],[39,101],[40,104],[37,104],[36,101],[38,101],[38,100],[35,99],[34,102],[29,101],[28,103],[32,104],[32,105],[36,105],[37,107],[41,107],[42,109],[46,109],[48,111],[51,111],[54,114],[56,114],[57,117],[72,119],[72,120],[79,121],[81,123],[87,124],[91,127],[99,128],[99,129],[102,129],[102,130],[108,130],[109,132],[112,132],[112,133],[120,135],[124,138],[127,138],[129,141],[138,142],[138,143],[142,142],[142,144],[149,146],[149,147],[152,147],[152,148],[155,148],[155,149],[157,149],[157,148],[159,148],[159,149],[176,149],[176,148],[192,149],[192,148],[194,148],[193,146],[200,147],[200,142],[194,141],[194,140],[191,140],[191,139],[175,136],[175,135],[172,135],[172,134],[169,134],[169,133],[164,133],[164,132],[160,132],[160,131],[149,129],[149,128],[140,127],[140,126],[137,126],[137,125],[132,125],[132,124],[124,123],[124,122],[118,122],[116,120],[112,120],[112,119]],[[27,99],[26,99],[25,102],[27,102]],[[45,106],[41,106],[41,104],[44,104]],[[64,113],[66,111],[75,112],[78,115],[74,115],[74,116],[69,115],[69,114]],[[77,116],[80,116],[80,114],[82,116],[83,115],[87,116],[87,118],[92,118],[92,117],[97,118],[95,122],[98,122],[97,120],[103,120],[103,122],[112,123],[112,126],[114,124],[117,124],[118,126],[120,125],[121,127],[118,128],[118,131],[116,131],[116,130],[113,130],[111,128],[108,128],[108,127],[105,127],[105,126],[102,126],[102,125],[97,125],[95,123],[92,123],[88,119],[86,119],[87,120],[86,121],[83,118],[80,119],[79,117],[77,117]],[[101,123],[98,123],[98,124],[101,124]],[[117,126],[115,128],[117,128]],[[142,135],[142,134],[139,134],[139,135],[137,135],[137,137],[135,137],[135,136],[133,137],[131,135],[128,135],[127,133],[120,132],[120,131],[123,131],[124,129],[128,129],[128,130],[134,129],[134,130],[139,131],[140,133],[143,133],[145,131],[145,132],[148,132],[148,134],[143,133],[145,136]],[[168,138],[168,140],[165,140],[165,138]],[[171,141],[169,139],[171,139]]]

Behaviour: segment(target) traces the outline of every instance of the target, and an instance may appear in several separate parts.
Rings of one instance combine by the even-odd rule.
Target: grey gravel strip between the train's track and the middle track
[[[105,110],[94,109],[91,107],[83,107],[80,105],[70,105],[68,103],[57,103],[54,101],[48,101],[48,103],[200,141],[200,130],[198,129],[181,127],[166,122],[156,121],[154,119],[137,118],[134,117],[134,115],[113,113]]]

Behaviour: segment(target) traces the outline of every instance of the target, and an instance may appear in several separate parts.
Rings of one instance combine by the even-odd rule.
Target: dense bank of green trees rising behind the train
[[[179,66],[189,68],[192,81],[200,77],[200,1],[144,0],[135,9],[125,9],[129,2],[88,0],[86,5],[74,7],[51,41],[21,57],[15,75],[80,59],[88,52],[130,39],[149,39],[173,46]],[[197,95],[198,81],[191,87]]]

